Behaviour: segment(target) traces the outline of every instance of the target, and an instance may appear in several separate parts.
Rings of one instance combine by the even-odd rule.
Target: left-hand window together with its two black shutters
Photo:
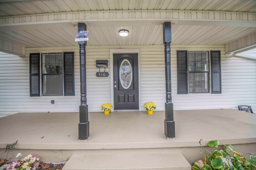
[[[30,54],[30,96],[74,96],[74,52]],[[42,84],[40,84],[42,80]]]

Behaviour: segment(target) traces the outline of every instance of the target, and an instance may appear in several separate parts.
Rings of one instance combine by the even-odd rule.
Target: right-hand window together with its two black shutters
[[[178,94],[221,93],[220,51],[177,51],[177,74]]]

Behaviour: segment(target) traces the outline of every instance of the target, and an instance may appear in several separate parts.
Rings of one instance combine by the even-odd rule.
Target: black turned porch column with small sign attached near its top
[[[86,31],[85,23],[78,23],[78,33]],[[78,38],[84,38],[79,36]],[[78,139],[86,140],[89,137],[88,105],[86,99],[86,41],[78,41],[80,53],[80,92],[81,105],[79,106]]]

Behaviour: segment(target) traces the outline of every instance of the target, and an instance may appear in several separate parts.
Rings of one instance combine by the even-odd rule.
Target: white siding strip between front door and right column
[[[164,45],[140,48],[141,110],[145,102],[156,103],[156,110],[165,108]]]

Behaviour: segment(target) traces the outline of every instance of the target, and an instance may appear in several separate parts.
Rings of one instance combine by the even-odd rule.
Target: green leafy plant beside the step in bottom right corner
[[[210,147],[218,148],[218,141],[210,141]],[[210,154],[209,156],[207,155]],[[192,164],[192,170],[256,170],[256,156],[244,157],[232,145],[224,145],[224,150],[210,152],[206,149],[203,160]]]

